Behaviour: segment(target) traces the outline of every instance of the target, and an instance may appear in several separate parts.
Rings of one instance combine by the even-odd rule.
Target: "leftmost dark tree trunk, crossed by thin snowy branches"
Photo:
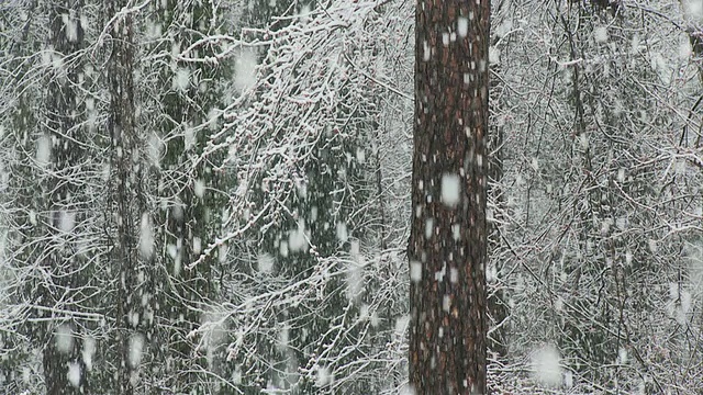
[[[60,57],[65,66],[54,71],[47,81],[46,94],[46,123],[44,124],[44,139],[51,147],[51,161],[46,167],[51,169],[51,176],[45,179],[46,208],[48,214],[48,233],[52,239],[70,240],[70,232],[65,229],[63,217],[76,214],[75,207],[80,207],[80,190],[77,185],[79,174],[76,167],[83,160],[83,149],[76,142],[85,140],[83,127],[80,125],[83,109],[79,99],[80,74],[82,61],[76,57],[83,48],[83,31],[80,22],[82,0],[66,1],[55,4],[49,11],[49,40],[48,43],[56,52],[54,56]],[[64,71],[64,72],[62,72]],[[78,217],[80,219],[80,216]],[[65,221],[65,219],[64,219]],[[52,241],[43,241],[46,251],[45,270],[53,275],[55,285],[71,290],[68,295],[58,295],[58,291],[51,285],[42,286],[40,297],[47,306],[59,306],[63,298],[80,298],[81,286],[86,283],[81,270],[80,258],[68,255],[64,249]],[[76,307],[69,304],[67,309]],[[57,323],[58,321],[58,323]],[[76,336],[78,326],[66,320],[47,321],[43,350],[44,381],[46,393],[51,395],[81,394],[88,391],[86,366],[80,359],[80,336]],[[56,341],[57,331],[70,337],[69,340]],[[70,325],[69,325],[70,324]],[[63,342],[64,345],[58,345]],[[69,366],[74,372],[70,374]],[[76,376],[76,372],[78,372]]]

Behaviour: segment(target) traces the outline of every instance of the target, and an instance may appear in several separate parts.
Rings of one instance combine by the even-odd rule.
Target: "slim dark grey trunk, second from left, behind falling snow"
[[[134,26],[132,13],[122,13],[124,1],[109,2],[107,20],[110,21],[111,54],[108,63],[110,109],[108,131],[111,154],[111,214],[116,230],[112,240],[112,264],[119,269],[116,327],[120,366],[116,377],[116,394],[130,395],[135,391],[133,375],[138,358],[134,358],[135,347],[141,348],[143,338],[135,329],[143,325],[141,296],[137,275],[140,267],[137,252],[138,219],[144,199],[141,169],[135,162],[135,153],[142,144],[136,131],[134,105]],[[112,15],[115,16],[110,20]],[[138,343],[138,345],[137,345]],[[138,353],[138,352],[136,352]],[[131,358],[132,357],[132,358]]]

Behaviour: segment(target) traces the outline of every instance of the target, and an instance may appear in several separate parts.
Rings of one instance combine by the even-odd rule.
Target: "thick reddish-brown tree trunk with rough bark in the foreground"
[[[410,383],[486,393],[488,0],[419,1]]]

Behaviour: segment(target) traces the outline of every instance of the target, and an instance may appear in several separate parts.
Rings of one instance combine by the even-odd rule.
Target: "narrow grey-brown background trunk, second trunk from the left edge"
[[[138,383],[138,369],[145,345],[150,339],[153,319],[148,314],[149,290],[153,275],[149,263],[152,246],[146,245],[145,227],[137,224],[149,217],[144,180],[148,172],[142,163],[140,148],[144,136],[135,116],[136,91],[134,11],[124,9],[127,2],[111,2],[105,9],[105,33],[109,33],[110,55],[105,71],[110,98],[108,133],[110,136],[110,194],[109,223],[115,237],[111,264],[118,270],[114,284],[116,300],[115,346],[119,356],[115,383],[120,394],[134,394]],[[140,239],[141,238],[141,239]],[[145,303],[146,302],[146,303]]]

